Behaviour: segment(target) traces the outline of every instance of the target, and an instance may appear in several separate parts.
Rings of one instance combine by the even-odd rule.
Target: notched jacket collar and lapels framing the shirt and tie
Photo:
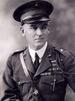
[[[33,62],[31,60],[31,57],[30,57],[30,54],[29,54],[29,50],[25,50],[24,52],[24,60],[25,60],[25,64],[26,64],[26,67],[27,69],[32,72],[32,73],[35,73],[34,77],[38,76],[39,74],[41,74],[42,72],[44,72],[45,70],[47,70],[48,68],[51,67],[51,63],[49,61],[49,58],[48,56],[49,55],[52,55],[52,51],[53,51],[53,47],[51,46],[47,46],[47,49],[45,51],[45,54],[42,58],[42,61],[35,73],[35,70],[34,70],[34,67],[33,67]]]

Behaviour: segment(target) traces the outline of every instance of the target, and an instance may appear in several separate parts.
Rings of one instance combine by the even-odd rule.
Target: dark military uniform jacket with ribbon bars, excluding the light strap
[[[20,53],[32,80],[23,71]],[[3,80],[1,101],[64,101],[67,84],[75,91],[75,57],[48,46],[35,72],[27,48],[9,57]]]

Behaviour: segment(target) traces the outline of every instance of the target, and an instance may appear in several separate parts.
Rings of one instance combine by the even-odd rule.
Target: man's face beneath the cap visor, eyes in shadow
[[[23,30],[28,45],[34,50],[42,48],[47,41],[49,34],[48,22],[24,24]]]

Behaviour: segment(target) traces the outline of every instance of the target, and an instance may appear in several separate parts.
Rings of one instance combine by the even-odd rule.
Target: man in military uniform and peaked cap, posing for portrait
[[[15,10],[13,17],[21,22],[28,48],[9,57],[1,101],[64,101],[67,84],[75,91],[75,57],[47,41],[52,11],[53,5],[44,0]]]

